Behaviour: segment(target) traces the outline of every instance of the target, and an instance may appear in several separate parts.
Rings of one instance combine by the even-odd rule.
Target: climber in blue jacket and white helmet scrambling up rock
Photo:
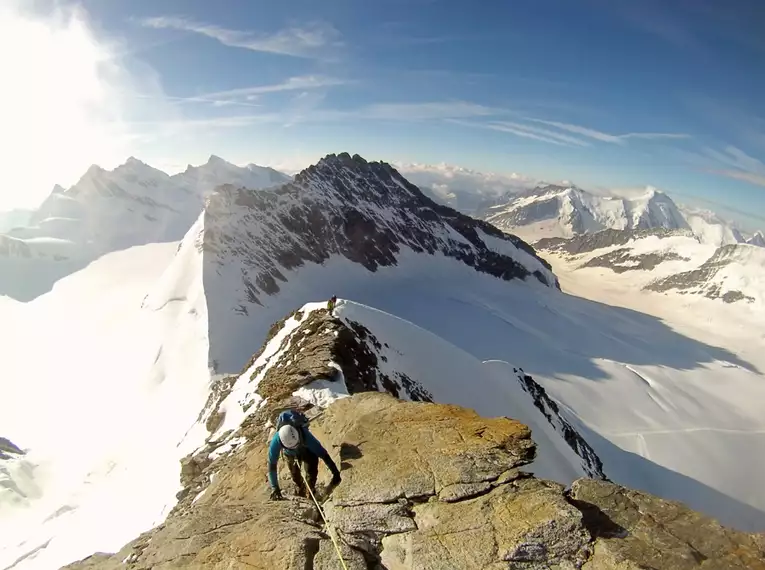
[[[277,465],[279,455],[284,453],[289,466],[292,481],[298,488],[298,496],[307,497],[308,493],[300,473],[301,465],[306,467],[306,478],[312,493],[316,494],[316,476],[319,471],[319,458],[321,458],[332,472],[330,487],[340,484],[340,471],[335,462],[327,453],[327,450],[319,443],[313,434],[308,431],[308,418],[297,410],[287,410],[279,414],[276,422],[276,433],[271,438],[268,448],[268,482],[271,485],[271,500],[283,499],[279,488]]]

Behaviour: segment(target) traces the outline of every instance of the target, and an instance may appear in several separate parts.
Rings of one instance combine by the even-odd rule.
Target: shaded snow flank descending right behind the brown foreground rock
[[[605,478],[595,451],[523,370],[504,361],[482,363],[433,333],[371,307],[340,301],[335,312],[362,333],[364,343],[377,355],[379,391],[405,400],[459,403],[486,416],[512,417],[532,428],[538,454],[531,470],[539,477]]]

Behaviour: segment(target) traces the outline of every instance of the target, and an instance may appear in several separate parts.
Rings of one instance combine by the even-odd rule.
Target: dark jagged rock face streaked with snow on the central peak
[[[519,250],[515,257],[524,262],[495,251],[483,236]],[[347,153],[269,190],[219,187],[205,208],[202,247],[213,269],[241,260],[250,303],[278,293],[285,271],[305,263],[340,255],[374,272],[396,265],[403,249],[442,254],[504,280],[533,277],[558,286],[549,265],[519,238],[436,204],[386,163]]]

